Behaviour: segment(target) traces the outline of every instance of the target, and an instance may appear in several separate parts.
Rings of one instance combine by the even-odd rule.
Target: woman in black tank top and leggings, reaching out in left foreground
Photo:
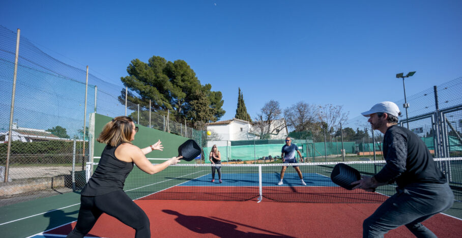
[[[152,165],[145,155],[154,150],[162,151],[162,144],[159,140],[146,148],[133,145],[131,141],[137,131],[128,116],[118,116],[104,126],[97,140],[107,145],[98,167],[82,189],[77,224],[67,237],[85,236],[103,213],[135,229],[135,237],[151,237],[148,216],[123,191],[125,179],[133,164],[154,174],[178,163],[181,157]]]

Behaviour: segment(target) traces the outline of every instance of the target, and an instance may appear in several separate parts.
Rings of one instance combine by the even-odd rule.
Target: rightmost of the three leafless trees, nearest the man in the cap
[[[349,112],[343,112],[343,106],[334,106],[332,104],[326,104],[319,106],[319,120],[325,124],[326,132],[329,135],[333,135],[338,128],[340,123],[348,121]]]

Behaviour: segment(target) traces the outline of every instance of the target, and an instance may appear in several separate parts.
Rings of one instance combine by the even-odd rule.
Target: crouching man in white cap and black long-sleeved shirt
[[[376,175],[362,176],[353,189],[374,191],[396,182],[396,193],[364,220],[363,237],[383,237],[401,225],[417,237],[437,237],[421,222],[452,206],[454,194],[425,143],[410,130],[397,126],[399,108],[381,102],[361,113],[373,130],[384,133],[386,165]]]

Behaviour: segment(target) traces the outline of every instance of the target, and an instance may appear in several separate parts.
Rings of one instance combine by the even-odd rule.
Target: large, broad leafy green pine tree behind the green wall
[[[221,92],[211,91],[210,84],[201,85],[195,72],[181,59],[167,62],[163,57],[153,56],[148,63],[133,59],[127,67],[127,73],[128,76],[121,77],[121,81],[130,91],[133,91],[133,93],[129,92],[127,97],[134,103],[132,105],[139,104],[149,108],[149,100],[151,100],[153,111],[170,110],[177,122],[183,122],[185,118],[191,122],[204,120],[200,115],[208,115],[210,109],[213,116],[206,117],[215,122],[225,113],[221,108],[223,106]],[[208,99],[207,110],[206,107],[191,106],[193,101],[198,100],[199,91]],[[125,103],[125,88],[119,96],[119,101]],[[191,112],[193,108],[206,111]],[[136,110],[136,108],[130,109]]]

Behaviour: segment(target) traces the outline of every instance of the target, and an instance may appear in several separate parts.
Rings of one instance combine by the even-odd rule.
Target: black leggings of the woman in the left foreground
[[[122,190],[100,196],[80,196],[77,224],[67,237],[85,236],[102,213],[115,217],[135,229],[136,238],[151,237],[148,216]]]

